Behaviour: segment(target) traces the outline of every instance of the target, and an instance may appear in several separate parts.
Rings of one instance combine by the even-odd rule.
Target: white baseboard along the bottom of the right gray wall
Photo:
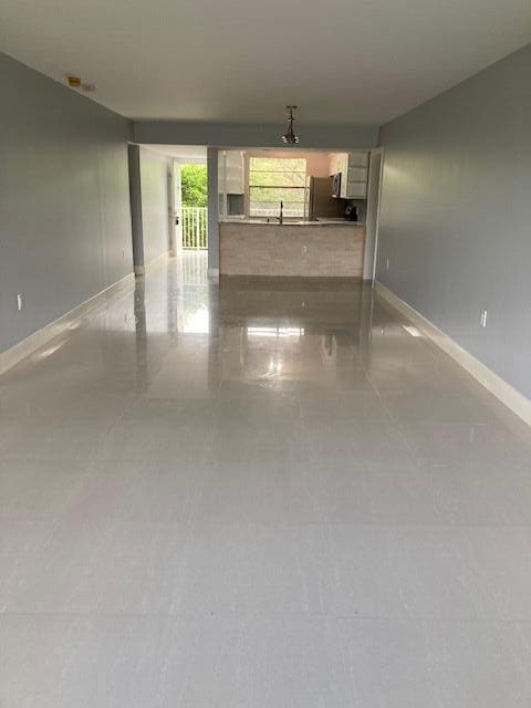
[[[531,400],[507,383],[501,376],[494,374],[488,366],[464,350],[457,342],[439,330],[419,312],[395,295],[386,285],[378,281],[374,283],[375,292],[388,302],[400,314],[410,320],[413,324],[434,344],[441,348],[460,364],[476,381],[496,396],[503,405],[514,413],[524,423],[531,426]]]

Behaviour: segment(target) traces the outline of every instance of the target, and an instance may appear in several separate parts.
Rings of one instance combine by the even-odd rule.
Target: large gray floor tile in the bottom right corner
[[[341,622],[353,706],[521,708],[529,700],[531,625]]]

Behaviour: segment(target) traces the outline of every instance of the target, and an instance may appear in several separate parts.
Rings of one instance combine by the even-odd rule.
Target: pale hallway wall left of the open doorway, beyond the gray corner
[[[144,263],[169,250],[169,191],[170,160],[140,147],[142,225]]]

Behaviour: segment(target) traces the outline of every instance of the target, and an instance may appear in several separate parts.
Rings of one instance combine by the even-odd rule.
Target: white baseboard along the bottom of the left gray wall
[[[88,298],[85,302],[76,305],[70,312],[58,317],[53,322],[44,325],[41,330],[33,332],[21,342],[18,342],[9,350],[0,352],[0,374],[3,374],[12,366],[15,366],[27,356],[33,354],[35,350],[43,346],[50,340],[53,340],[59,334],[69,330],[74,330],[80,323],[86,320],[87,315],[96,315],[102,305],[106,304],[111,299],[115,298],[119,293],[125,294],[127,290],[133,288],[135,283],[134,273],[129,273],[122,280],[113,283],[105,290],[102,290],[97,294]]]

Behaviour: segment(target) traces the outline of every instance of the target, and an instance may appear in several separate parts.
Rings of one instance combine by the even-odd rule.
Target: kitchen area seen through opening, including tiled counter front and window
[[[219,272],[364,277],[368,150],[220,150]]]

